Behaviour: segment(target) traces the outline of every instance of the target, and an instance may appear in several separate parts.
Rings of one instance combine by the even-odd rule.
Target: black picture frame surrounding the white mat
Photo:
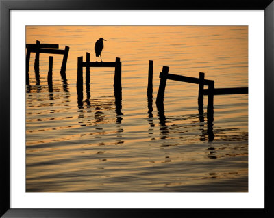
[[[264,209],[17,209],[10,208],[10,10],[264,10]],[[0,215],[3,217],[274,217],[273,111],[274,100],[273,0],[0,0]],[[263,119],[263,118],[262,118]],[[263,140],[262,140],[263,143]],[[258,147],[263,145],[258,145]],[[260,148],[258,148],[260,149]]]

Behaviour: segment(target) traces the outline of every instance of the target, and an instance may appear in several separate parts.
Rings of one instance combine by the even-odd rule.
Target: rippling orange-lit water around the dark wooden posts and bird
[[[104,38],[102,59],[122,62],[122,109],[116,113],[114,68],[90,68],[90,99],[78,107],[77,57]],[[66,79],[62,55],[35,54],[26,85],[26,191],[150,192],[248,191],[248,95],[214,96],[210,139],[198,85],[168,80],[164,112],[155,98],[162,66],[169,72],[215,81],[215,87],[248,86],[247,26],[29,26],[26,43],[69,46]],[[153,111],[147,101],[149,60]],[[86,69],[83,70],[84,72]],[[85,81],[85,74],[84,74]]]

